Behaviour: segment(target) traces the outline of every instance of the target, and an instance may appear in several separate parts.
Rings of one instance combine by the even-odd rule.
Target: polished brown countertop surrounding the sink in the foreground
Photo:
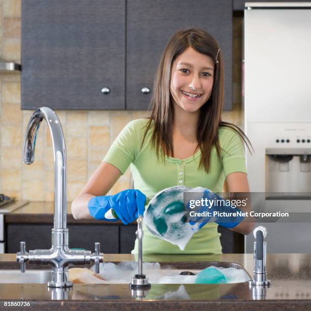
[[[104,247],[103,247],[104,249]],[[15,254],[0,255],[0,269],[19,268]],[[105,254],[105,262],[133,261],[130,254]],[[252,275],[253,254],[222,255],[145,255],[144,261],[166,262],[184,269],[202,266],[206,261],[235,262]],[[204,263],[203,263],[204,265]],[[29,267],[26,264],[26,269]],[[43,269],[43,265],[31,265]],[[176,266],[177,267],[177,266]],[[86,285],[74,284],[72,290],[57,294],[43,284],[0,284],[1,307],[4,301],[29,301],[38,309],[56,310],[65,305],[70,308],[102,309],[108,307],[127,309],[218,308],[230,310],[253,309],[310,309],[311,308],[311,255],[268,254],[267,277],[272,284],[262,294],[264,299],[255,300],[248,283],[237,284],[163,284],[152,285],[142,300],[132,298],[128,284]],[[64,300],[53,300],[55,297]],[[60,296],[59,296],[60,295]],[[61,296],[63,295],[63,296]],[[1,308],[0,307],[0,308]]]

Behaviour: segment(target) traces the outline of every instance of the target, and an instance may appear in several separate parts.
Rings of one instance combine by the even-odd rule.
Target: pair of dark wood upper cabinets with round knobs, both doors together
[[[161,53],[186,27],[219,42],[231,109],[231,0],[23,0],[22,109],[148,109]]]

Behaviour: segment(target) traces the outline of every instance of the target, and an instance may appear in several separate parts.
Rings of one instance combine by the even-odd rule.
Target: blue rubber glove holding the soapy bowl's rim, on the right
[[[213,216],[214,211],[220,211],[220,212],[237,212],[241,211],[237,207],[231,207],[231,206],[226,206],[224,200],[221,196],[217,195],[216,193],[211,192],[210,190],[206,190],[203,193],[203,199],[208,199],[208,200],[214,200],[215,203],[217,203],[217,200],[221,200],[222,204],[214,204],[210,208],[208,206],[202,206],[199,209],[196,209],[197,212],[203,212],[203,211],[209,211],[211,213],[211,216],[194,216],[189,219],[189,223],[191,225],[194,225],[196,223],[199,223],[199,229],[201,229],[204,225],[206,225],[208,222],[213,221],[216,224],[219,224],[222,227],[226,228],[234,228],[236,227],[243,219],[244,216],[222,216],[222,217],[217,217]],[[189,203],[187,204],[188,209]]]

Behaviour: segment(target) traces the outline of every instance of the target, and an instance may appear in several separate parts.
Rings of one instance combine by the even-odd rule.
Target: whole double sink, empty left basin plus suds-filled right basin
[[[203,269],[212,266],[220,268],[235,268],[240,272],[245,272],[245,279],[234,280],[231,279],[228,283],[240,283],[245,282],[249,279],[248,273],[244,268],[237,263],[230,262],[162,262],[162,263],[144,263],[147,269],[143,272],[149,278],[151,284],[159,284],[159,279],[162,277],[160,284],[193,284],[196,275]],[[148,265],[152,265],[151,267]],[[155,265],[156,269],[154,269]],[[137,268],[136,262],[105,262],[101,264],[101,273],[95,274],[94,270],[87,268],[71,268],[69,269],[69,280],[73,283],[82,284],[127,284],[131,282],[131,277],[134,276],[135,272],[133,267]],[[131,267],[131,268],[128,268]],[[115,270],[116,277],[113,275],[107,275],[104,271],[109,271],[111,274],[112,270]],[[188,277],[183,277],[179,274],[183,271],[189,271],[195,274]],[[21,273],[20,270],[13,269],[0,269],[0,284],[1,283],[37,283],[46,284],[51,281],[51,270],[36,270],[26,269],[25,273]],[[108,277],[106,277],[108,276]],[[174,278],[166,277],[173,276]],[[175,283],[176,281],[176,283]]]

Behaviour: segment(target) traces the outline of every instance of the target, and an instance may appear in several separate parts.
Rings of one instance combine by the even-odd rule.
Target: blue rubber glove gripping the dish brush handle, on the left
[[[123,190],[112,196],[91,198],[88,202],[88,211],[97,220],[117,221],[106,219],[105,214],[113,209],[123,224],[133,223],[138,215],[145,211],[146,196],[135,189]]]

